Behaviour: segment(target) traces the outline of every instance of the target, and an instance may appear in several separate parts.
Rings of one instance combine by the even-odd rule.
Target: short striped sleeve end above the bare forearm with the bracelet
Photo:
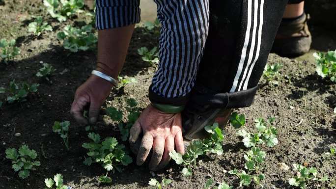
[[[96,28],[125,27],[140,22],[140,0],[96,0]]]

